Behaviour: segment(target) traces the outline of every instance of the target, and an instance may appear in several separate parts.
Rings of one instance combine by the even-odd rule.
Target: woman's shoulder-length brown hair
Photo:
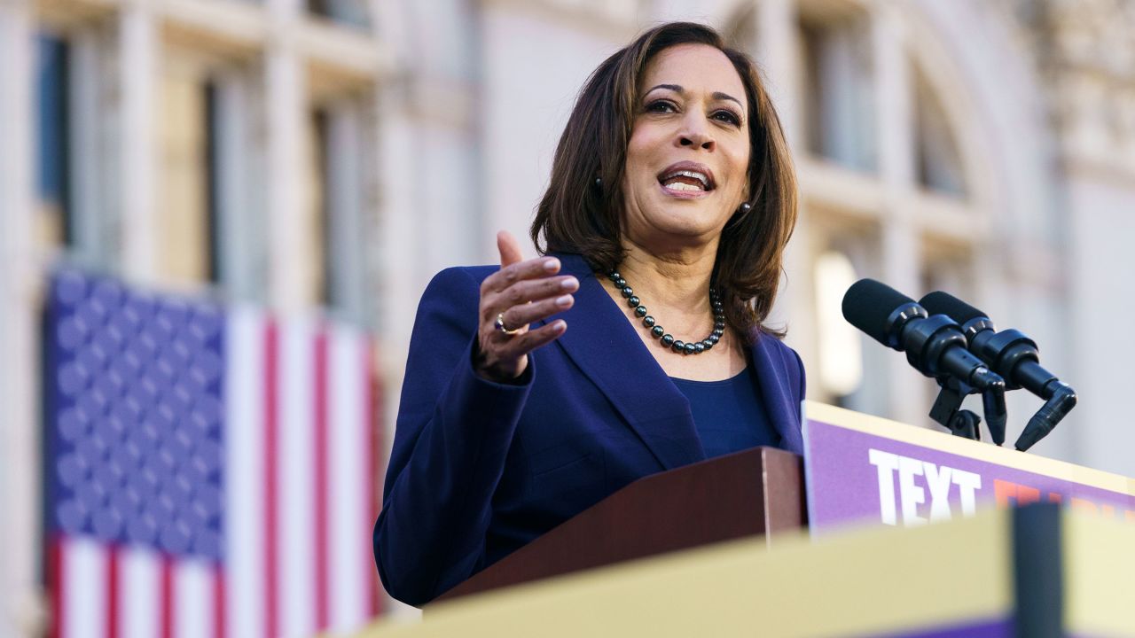
[[[532,220],[532,243],[540,253],[582,254],[602,272],[622,262],[620,184],[638,112],[639,78],[662,50],[688,43],[708,44],[725,53],[745,84],[751,114],[748,202],[753,209],[734,213],[725,225],[714,263],[713,280],[724,302],[725,321],[742,339],[748,341],[757,326],[783,336],[762,322],[776,297],[784,245],[796,224],[792,158],[756,65],[725,47],[712,27],[693,23],[657,26],[595,69],[560,137],[552,181]]]

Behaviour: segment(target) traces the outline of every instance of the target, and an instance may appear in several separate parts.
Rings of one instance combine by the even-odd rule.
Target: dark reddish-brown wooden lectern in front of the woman
[[[644,477],[435,602],[806,523],[801,457],[756,447]]]

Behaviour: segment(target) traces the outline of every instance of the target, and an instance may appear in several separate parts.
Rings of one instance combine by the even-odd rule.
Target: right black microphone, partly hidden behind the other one
[[[1025,388],[1045,400],[1017,439],[1017,450],[1024,452],[1044,438],[1076,406],[1076,391],[1041,367],[1036,342],[1020,330],[999,333],[985,312],[941,291],[927,294],[920,303],[961,324],[969,351],[1004,377],[1007,389]]]

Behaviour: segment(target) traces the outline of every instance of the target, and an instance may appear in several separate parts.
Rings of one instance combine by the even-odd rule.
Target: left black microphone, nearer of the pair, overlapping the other
[[[843,318],[886,347],[906,352],[916,370],[939,380],[943,389],[931,417],[956,434],[976,436],[976,415],[965,427],[955,417],[966,417],[959,408],[973,392],[969,388],[981,391],[990,435],[995,444],[1004,443],[1004,379],[967,350],[957,322],[944,314],[930,316],[913,299],[874,279],[860,279],[848,288]]]

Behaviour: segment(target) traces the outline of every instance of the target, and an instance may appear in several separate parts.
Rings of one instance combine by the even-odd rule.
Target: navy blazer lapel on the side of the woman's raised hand
[[[562,274],[579,279],[575,304],[560,314],[568,331],[560,347],[598,386],[665,469],[705,459],[686,396],[642,346],[578,254],[557,254]]]

